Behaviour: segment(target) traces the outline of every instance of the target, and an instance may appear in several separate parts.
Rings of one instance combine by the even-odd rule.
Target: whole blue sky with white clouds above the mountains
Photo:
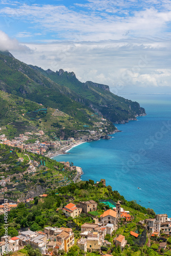
[[[117,94],[171,94],[170,0],[0,0],[0,50]]]

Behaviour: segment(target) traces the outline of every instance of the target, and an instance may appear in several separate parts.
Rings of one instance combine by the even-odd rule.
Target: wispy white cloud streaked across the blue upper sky
[[[101,6],[103,2],[106,6],[114,3],[106,0],[91,2],[97,6]],[[118,5],[121,3],[118,2]],[[141,11],[135,9],[131,15],[111,15],[106,10],[99,14],[93,11],[73,10],[63,5],[34,4],[20,5],[18,8],[5,7],[0,13],[29,22],[32,28],[44,33],[51,32],[56,38],[76,41],[163,36],[163,31],[167,30],[168,22],[171,21],[171,11],[159,11],[153,7]]]

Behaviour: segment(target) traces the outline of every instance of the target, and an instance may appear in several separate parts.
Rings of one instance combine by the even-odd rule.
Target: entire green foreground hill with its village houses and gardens
[[[87,198],[88,194],[85,189],[89,191],[90,197],[93,195],[91,191],[94,190],[96,200],[77,200],[78,195],[80,199]],[[105,195],[109,196],[109,194],[118,198],[118,201],[108,199]],[[48,201],[51,201],[49,207]],[[54,204],[54,202],[57,203]],[[34,223],[30,222],[30,224],[33,223],[31,226],[28,218],[27,224],[23,225],[20,222],[20,229],[13,232],[15,236],[8,236],[8,250],[13,252],[13,255],[25,255],[30,248],[28,246],[31,246],[33,250],[37,249],[43,256],[63,255],[71,251],[75,253],[77,251],[81,255],[85,253],[87,255],[94,255],[94,253],[101,255],[171,254],[171,218],[168,218],[167,214],[155,215],[153,210],[146,210],[134,202],[126,202],[117,191],[112,192],[110,186],[106,187],[104,179],[96,183],[92,180],[71,183],[68,186],[59,187],[56,194],[49,190],[49,195],[43,194],[30,198],[26,205],[18,201],[15,206],[11,206],[10,214],[13,211],[17,214],[19,209],[23,208],[28,212],[27,216],[30,216],[34,211],[32,208],[31,211],[27,209],[27,203],[33,208],[46,204],[49,213],[50,208],[53,207],[56,217],[53,215],[51,221],[50,219],[48,221],[48,217],[46,219],[47,223],[54,225],[46,226],[46,221],[42,222],[43,219]],[[135,210],[136,207],[139,207],[139,210]],[[3,211],[1,214],[3,216]],[[26,228],[23,229],[22,226]],[[5,236],[1,237],[0,255],[3,255],[5,251],[5,239]],[[15,254],[17,251],[22,254]]]

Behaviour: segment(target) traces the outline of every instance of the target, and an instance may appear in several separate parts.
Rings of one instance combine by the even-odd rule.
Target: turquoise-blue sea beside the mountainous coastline
[[[105,179],[127,201],[171,218],[171,95],[120,96],[139,102],[147,115],[116,124],[121,132],[110,140],[80,144],[54,159],[80,166],[82,180]]]

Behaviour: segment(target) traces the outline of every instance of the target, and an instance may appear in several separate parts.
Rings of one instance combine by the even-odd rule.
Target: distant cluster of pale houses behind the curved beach
[[[26,132],[25,134],[19,134],[19,137],[15,137],[13,140],[8,140],[5,134],[0,135],[0,143],[11,146],[11,147],[18,147],[21,148],[22,150],[27,150],[32,153],[36,153],[38,155],[47,152],[47,150],[51,148],[57,148],[62,145],[68,145],[72,142],[74,142],[74,138],[68,138],[68,140],[60,140],[60,141],[45,141],[45,142],[40,142],[38,139],[35,143],[28,143],[25,144],[24,141],[27,141],[29,139],[28,135],[34,135],[34,136],[42,136],[44,135],[43,131],[39,131],[38,133],[30,133]]]

